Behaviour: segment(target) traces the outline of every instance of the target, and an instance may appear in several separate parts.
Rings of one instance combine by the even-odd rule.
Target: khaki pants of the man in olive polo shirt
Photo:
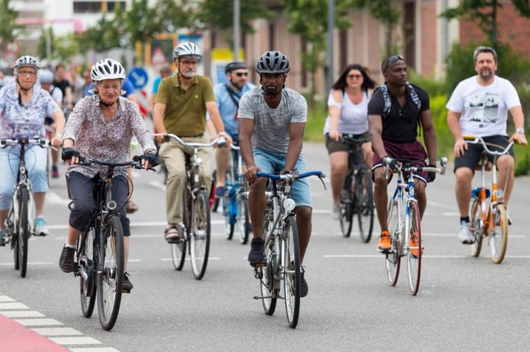
[[[208,143],[203,137],[181,138],[184,142]],[[166,216],[168,224],[182,222],[182,197],[186,182],[185,154],[193,158],[193,148],[184,147],[172,140],[160,146],[160,157],[167,167],[167,189],[166,189]],[[206,194],[210,194],[212,182],[210,170],[211,148],[199,148],[199,157],[202,159],[199,175],[206,186]],[[190,161],[193,161],[191,159]]]

